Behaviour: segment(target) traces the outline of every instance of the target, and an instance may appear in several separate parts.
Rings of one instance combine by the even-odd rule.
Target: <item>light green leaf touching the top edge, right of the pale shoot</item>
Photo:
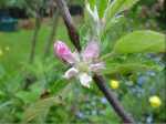
[[[138,0],[114,0],[105,13],[105,19],[110,21],[117,13],[132,8]]]

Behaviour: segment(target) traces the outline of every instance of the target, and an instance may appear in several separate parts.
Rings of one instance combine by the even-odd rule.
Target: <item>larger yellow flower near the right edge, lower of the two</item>
[[[157,95],[151,96],[148,101],[152,107],[159,107],[162,105],[162,101]]]

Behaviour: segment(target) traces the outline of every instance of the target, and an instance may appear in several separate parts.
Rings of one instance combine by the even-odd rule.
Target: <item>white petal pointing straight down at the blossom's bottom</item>
[[[90,87],[90,83],[92,81],[92,78],[90,75],[87,75],[86,73],[81,73],[79,75],[79,78],[80,78],[80,82],[83,86]]]

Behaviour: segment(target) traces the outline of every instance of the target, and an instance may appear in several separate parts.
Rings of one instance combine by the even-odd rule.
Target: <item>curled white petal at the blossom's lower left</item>
[[[75,68],[71,68],[65,72],[64,78],[71,79],[71,78],[75,76],[77,73],[79,73],[79,70],[76,70]]]

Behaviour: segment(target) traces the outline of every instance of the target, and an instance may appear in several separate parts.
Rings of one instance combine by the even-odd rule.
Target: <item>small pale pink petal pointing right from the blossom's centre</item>
[[[92,72],[100,72],[101,70],[105,69],[105,64],[103,62],[91,64],[90,70]]]

